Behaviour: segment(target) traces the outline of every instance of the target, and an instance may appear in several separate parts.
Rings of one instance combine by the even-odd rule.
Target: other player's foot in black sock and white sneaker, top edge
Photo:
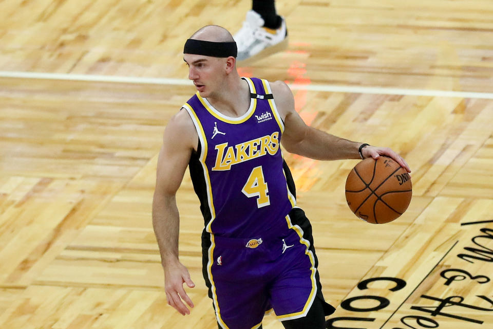
[[[286,21],[276,12],[274,0],[253,0],[241,29],[233,38],[238,47],[237,61],[260,59],[288,47]]]

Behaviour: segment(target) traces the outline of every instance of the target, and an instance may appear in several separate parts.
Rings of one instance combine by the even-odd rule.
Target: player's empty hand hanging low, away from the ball
[[[166,300],[168,305],[173,306],[182,315],[190,314],[190,310],[183,303],[194,307],[194,303],[185,293],[183,283],[190,288],[195,287],[195,283],[190,279],[190,274],[183,264],[176,261],[173,265],[167,264],[164,269],[164,290],[166,292]]]

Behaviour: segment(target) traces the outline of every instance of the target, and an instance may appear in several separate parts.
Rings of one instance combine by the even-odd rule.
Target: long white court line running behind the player
[[[122,77],[122,76],[101,76],[101,75],[62,74],[62,73],[43,73],[43,72],[16,72],[16,71],[0,71],[0,78],[119,82],[119,83],[160,84],[160,85],[192,85],[192,82],[189,81],[188,79]],[[290,84],[289,86],[293,90],[309,90],[311,92],[493,99],[493,93],[455,92],[451,90],[336,86],[330,84]]]

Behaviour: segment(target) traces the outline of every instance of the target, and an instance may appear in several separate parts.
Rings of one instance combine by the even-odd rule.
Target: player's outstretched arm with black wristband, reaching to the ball
[[[282,81],[271,82],[272,94],[285,131],[281,144],[291,153],[316,160],[360,159],[358,149],[363,144],[328,134],[308,126],[294,109],[294,97],[288,85]],[[411,172],[406,161],[390,148],[371,145],[362,148],[364,158],[377,159],[384,155],[393,158],[401,167]]]

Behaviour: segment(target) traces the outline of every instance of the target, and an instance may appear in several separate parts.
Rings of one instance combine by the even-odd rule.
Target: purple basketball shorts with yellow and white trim
[[[248,239],[206,234],[204,278],[220,327],[257,328],[271,309],[280,321],[304,317],[316,296],[323,298],[311,226],[293,217],[291,211],[282,232]]]

